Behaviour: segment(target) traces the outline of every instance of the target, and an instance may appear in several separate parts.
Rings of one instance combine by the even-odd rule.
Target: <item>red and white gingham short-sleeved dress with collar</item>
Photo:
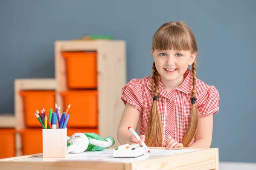
[[[181,143],[189,125],[191,112],[192,72],[187,69],[180,86],[167,94],[160,75],[158,76],[158,109],[163,126],[163,141],[168,136]],[[214,86],[197,79],[196,102],[199,116],[215,114],[219,111],[219,94]],[[153,103],[152,77],[131,79],[122,89],[122,101],[130,103],[140,112],[140,135],[145,135],[149,114]],[[189,146],[195,142],[195,138]]]

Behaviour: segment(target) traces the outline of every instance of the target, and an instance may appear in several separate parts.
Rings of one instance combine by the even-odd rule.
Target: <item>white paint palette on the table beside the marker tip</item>
[[[123,144],[113,150],[114,158],[136,158],[145,154],[145,148],[140,144]]]

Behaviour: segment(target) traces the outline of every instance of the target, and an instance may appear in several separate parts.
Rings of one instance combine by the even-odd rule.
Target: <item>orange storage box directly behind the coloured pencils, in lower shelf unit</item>
[[[26,127],[41,127],[34,113],[41,109],[49,116],[49,109],[55,111],[55,91],[20,91],[23,97],[24,121]]]

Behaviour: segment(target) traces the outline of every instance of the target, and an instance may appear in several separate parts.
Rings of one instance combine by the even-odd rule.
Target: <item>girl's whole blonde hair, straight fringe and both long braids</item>
[[[164,23],[162,26],[160,26],[153,36],[152,49],[185,50],[191,51],[192,53],[198,51],[196,40],[192,31],[182,21]],[[193,75],[191,119],[186,135],[182,141],[184,147],[188,147],[192,139],[195,137],[198,125],[198,108],[195,105],[196,61],[193,62],[191,71]],[[152,66],[152,90],[153,105],[151,107],[148,128],[146,130],[145,142],[148,146],[162,146],[163,127],[157,107],[158,72],[154,62]]]

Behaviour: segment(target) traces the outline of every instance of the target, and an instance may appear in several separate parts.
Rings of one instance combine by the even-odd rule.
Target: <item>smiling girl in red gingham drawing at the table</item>
[[[198,48],[192,31],[181,21],[164,23],[153,36],[151,51],[152,76],[132,79],[122,89],[120,144],[141,144],[127,129],[135,129],[140,119],[140,138],[147,146],[210,147],[219,94],[196,78]]]

